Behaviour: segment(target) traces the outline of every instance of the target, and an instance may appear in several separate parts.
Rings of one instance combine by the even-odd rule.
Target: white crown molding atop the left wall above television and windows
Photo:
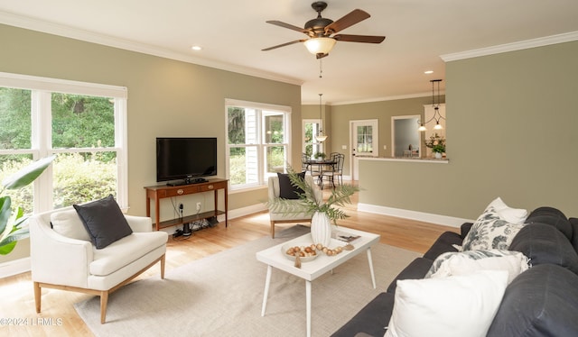
[[[174,59],[182,62],[192,63],[199,66],[218,68],[220,70],[226,70],[235,72],[238,74],[260,77],[265,79],[270,79],[274,81],[284,82],[296,86],[302,86],[303,80],[294,77],[282,77],[278,74],[271,72],[266,72],[256,68],[242,67],[238,65],[233,65],[225,62],[218,62],[210,59],[196,58],[188,54],[184,54],[172,50],[164,50],[162,48],[154,47],[148,44],[129,41],[124,39],[119,39],[106,34],[100,34],[97,32],[89,32],[86,30],[81,30],[78,28],[66,26],[59,23],[49,23],[42,20],[36,20],[29,17],[24,17],[21,15],[10,14],[6,12],[0,12],[0,23],[28,29],[36,32],[44,32],[52,35],[58,35],[65,38],[70,38],[79,41],[86,41],[91,43],[101,44],[107,47],[114,47],[121,50],[130,50],[147,55],[153,55],[164,59]]]

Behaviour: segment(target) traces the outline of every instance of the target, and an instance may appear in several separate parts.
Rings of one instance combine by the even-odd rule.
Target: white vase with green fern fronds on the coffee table
[[[351,203],[351,196],[357,191],[358,187],[348,184],[338,185],[331,190],[331,196],[327,201],[320,201],[315,198],[315,192],[312,185],[294,172],[292,168],[288,169],[291,184],[297,189],[303,190],[299,193],[302,203],[295,205],[289,203],[283,198],[269,200],[269,205],[273,209],[283,210],[285,213],[305,213],[312,214],[311,233],[313,243],[322,243],[327,246],[331,240],[331,223],[337,225],[337,220],[345,219],[349,215],[345,214],[338,206],[344,206]]]

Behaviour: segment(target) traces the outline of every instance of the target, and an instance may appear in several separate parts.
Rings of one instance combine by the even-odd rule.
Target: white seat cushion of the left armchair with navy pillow
[[[98,276],[109,275],[140,259],[148,251],[163,246],[166,241],[166,232],[133,232],[103,249],[93,247],[94,260],[90,262],[89,272]]]

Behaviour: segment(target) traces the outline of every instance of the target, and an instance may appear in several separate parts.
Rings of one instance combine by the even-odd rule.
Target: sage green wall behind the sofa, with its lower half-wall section
[[[501,196],[577,216],[577,58],[573,41],[448,62],[449,164],[365,160],[359,203],[475,219]]]

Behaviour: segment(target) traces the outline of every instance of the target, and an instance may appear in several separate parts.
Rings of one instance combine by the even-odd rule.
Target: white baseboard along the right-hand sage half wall
[[[375,213],[375,214],[382,214],[382,215],[389,215],[389,216],[396,216],[396,217],[404,218],[404,219],[423,221],[424,223],[436,223],[436,224],[442,224],[444,226],[451,226],[451,227],[457,227],[457,228],[459,228],[462,223],[475,222],[475,220],[471,220],[471,219],[463,219],[463,218],[457,218],[457,217],[447,216],[447,215],[417,212],[417,211],[411,211],[411,210],[400,209],[400,208],[392,208],[392,207],[386,207],[386,206],[380,206],[380,205],[358,204],[358,211]]]

